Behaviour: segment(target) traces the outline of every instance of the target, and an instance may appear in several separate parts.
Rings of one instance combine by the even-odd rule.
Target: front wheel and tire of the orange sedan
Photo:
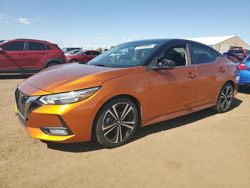
[[[124,97],[107,102],[98,112],[95,121],[95,138],[107,148],[121,146],[131,140],[139,125],[135,103]]]

